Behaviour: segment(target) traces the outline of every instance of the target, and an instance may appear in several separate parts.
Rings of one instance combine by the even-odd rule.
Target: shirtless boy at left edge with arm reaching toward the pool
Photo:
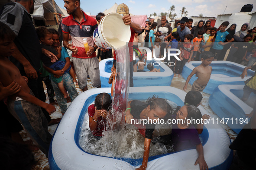
[[[36,98],[29,89],[26,80],[21,76],[19,69],[7,57],[14,52],[14,32],[3,22],[0,22],[0,82],[3,86],[17,82],[21,90],[8,97],[8,110],[23,124],[33,142],[48,157],[52,135],[48,132],[48,122],[40,107],[51,114],[55,107]]]

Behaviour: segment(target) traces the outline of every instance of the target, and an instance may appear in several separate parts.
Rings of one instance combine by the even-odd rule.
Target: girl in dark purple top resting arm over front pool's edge
[[[178,106],[175,113],[175,119],[180,121],[172,124],[172,133],[160,136],[160,139],[154,143],[160,142],[165,145],[173,145],[174,151],[182,151],[196,146],[198,158],[194,165],[199,164],[200,170],[208,170],[208,166],[204,160],[204,148],[195,129],[196,124],[188,124],[189,121],[187,121],[192,120],[192,118],[195,120],[201,119],[200,110],[195,106],[186,104],[183,107]]]

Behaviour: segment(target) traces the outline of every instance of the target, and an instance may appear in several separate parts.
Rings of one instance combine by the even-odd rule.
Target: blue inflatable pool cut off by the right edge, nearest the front
[[[243,129],[246,124],[246,114],[250,114],[253,110],[253,103],[256,100],[256,95],[251,94],[245,102],[240,98],[243,96],[244,85],[219,85],[214,89],[213,94],[209,98],[209,105],[220,119],[224,118],[224,122],[237,134]],[[250,105],[248,105],[248,103]],[[228,118],[232,119],[228,120]],[[228,121],[227,121],[228,120]]]

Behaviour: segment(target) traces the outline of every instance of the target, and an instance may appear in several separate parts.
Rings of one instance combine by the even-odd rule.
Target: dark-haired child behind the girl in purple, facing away
[[[185,96],[184,104],[190,104],[195,107],[198,107],[201,104],[203,95],[198,91],[188,91],[188,93]],[[196,129],[198,131],[198,134],[201,134],[204,130],[204,120],[210,119],[210,116],[207,114],[204,114],[202,116],[202,124],[197,124]]]

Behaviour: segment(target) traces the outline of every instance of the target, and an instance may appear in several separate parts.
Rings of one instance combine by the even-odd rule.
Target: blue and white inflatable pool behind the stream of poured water
[[[138,62],[138,59],[137,59]],[[170,86],[173,79],[173,72],[166,64],[152,59],[151,61],[147,61],[147,63],[152,62],[154,64],[154,68],[160,69],[161,72],[149,72],[147,66],[144,66],[144,70],[148,72],[133,72],[133,84],[134,87],[141,86],[160,86],[166,85]],[[111,84],[108,84],[108,79],[111,75],[111,68],[113,65],[113,58],[104,59],[100,61],[100,81],[101,87],[111,87]]]

